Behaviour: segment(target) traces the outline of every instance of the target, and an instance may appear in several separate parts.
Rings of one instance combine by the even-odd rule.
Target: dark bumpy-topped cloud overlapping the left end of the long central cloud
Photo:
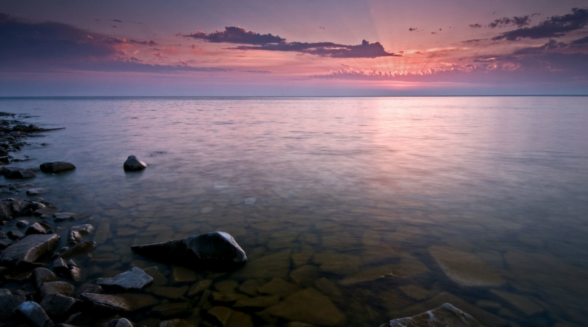
[[[280,43],[286,39],[271,34],[260,34],[252,31],[246,31],[239,26],[226,26],[225,31],[220,32],[218,29],[213,33],[206,34],[198,31],[189,35],[183,35],[189,38],[203,39],[209,42],[226,42],[226,43],[240,43],[252,45],[266,45],[268,43]]]

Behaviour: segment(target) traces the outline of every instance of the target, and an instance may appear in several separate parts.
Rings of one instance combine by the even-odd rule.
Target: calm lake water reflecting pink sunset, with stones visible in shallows
[[[156,264],[132,244],[220,230],[245,268],[177,281],[158,264],[160,284],[212,279],[225,298],[209,302],[255,325],[377,326],[451,302],[488,326],[574,326],[588,321],[586,99],[5,98],[0,111],[66,127],[28,139],[15,157],[32,160],[15,165],[78,167],[32,183],[98,229],[86,282]],[[130,154],[149,167],[125,173]],[[305,312],[296,319],[273,302],[233,306],[273,278],[320,301],[278,294]],[[192,308],[201,298],[145,292]],[[181,316],[210,322],[206,309]]]

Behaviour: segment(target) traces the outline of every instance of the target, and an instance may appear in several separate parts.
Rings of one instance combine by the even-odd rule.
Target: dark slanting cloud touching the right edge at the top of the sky
[[[588,25],[588,9],[573,8],[572,14],[551,16],[536,26],[515,29],[492,39],[494,41],[501,39],[516,41],[521,38],[559,38],[564,36],[566,32],[584,28],[586,25]]]

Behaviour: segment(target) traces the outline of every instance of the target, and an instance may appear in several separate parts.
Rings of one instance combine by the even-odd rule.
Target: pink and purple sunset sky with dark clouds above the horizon
[[[588,95],[586,0],[0,0],[0,96]]]

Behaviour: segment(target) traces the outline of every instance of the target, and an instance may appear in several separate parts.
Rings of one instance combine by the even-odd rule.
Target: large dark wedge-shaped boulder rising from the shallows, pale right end
[[[131,249],[159,261],[213,270],[236,268],[247,260],[245,251],[226,232],[209,232],[163,243],[133,245]]]

